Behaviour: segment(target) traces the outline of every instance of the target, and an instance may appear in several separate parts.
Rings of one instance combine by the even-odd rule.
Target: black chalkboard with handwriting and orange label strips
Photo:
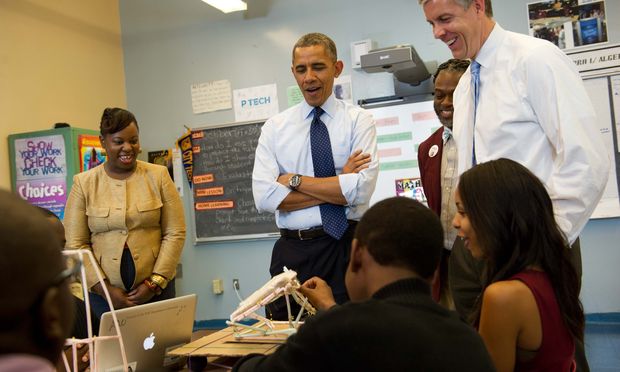
[[[192,131],[196,240],[278,236],[272,213],[252,196],[254,152],[264,121]]]

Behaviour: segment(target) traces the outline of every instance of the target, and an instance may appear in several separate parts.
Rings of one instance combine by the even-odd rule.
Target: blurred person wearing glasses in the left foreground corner
[[[61,243],[42,213],[0,190],[0,370],[53,371],[73,320]]]

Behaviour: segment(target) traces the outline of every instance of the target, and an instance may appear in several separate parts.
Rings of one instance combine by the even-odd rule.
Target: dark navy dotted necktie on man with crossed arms
[[[336,175],[336,167],[334,166],[332,145],[329,140],[327,127],[321,121],[321,114],[323,114],[323,109],[316,107],[312,124],[310,125],[310,148],[312,150],[314,176],[333,177]],[[334,239],[340,240],[349,226],[344,207],[342,205],[323,203],[319,205],[319,208],[321,210],[323,230]]]

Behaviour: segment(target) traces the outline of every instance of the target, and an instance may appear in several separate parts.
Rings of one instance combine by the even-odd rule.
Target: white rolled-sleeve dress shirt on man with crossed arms
[[[377,182],[378,159],[375,122],[367,111],[335,99],[332,94],[321,106],[321,120],[327,126],[334,165],[342,195],[347,201],[350,220],[359,220],[368,209]],[[276,214],[276,223],[284,229],[307,229],[320,226],[318,206],[296,211],[278,210],[291,190],[277,182],[285,173],[314,176],[310,148],[310,124],[314,107],[305,101],[275,115],[263,125],[252,173],[252,192],[259,212]],[[371,163],[360,173],[341,174],[353,151],[369,153]]]

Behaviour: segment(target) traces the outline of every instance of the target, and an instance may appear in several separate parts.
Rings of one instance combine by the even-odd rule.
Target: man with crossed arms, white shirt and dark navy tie
[[[319,276],[338,303],[348,299],[344,273],[354,225],[368,209],[378,172],[372,116],[332,94],[342,69],[329,37],[311,33],[297,41],[291,71],[304,101],[267,120],[252,174],[256,208],[275,213],[281,233],[271,275],[286,266],[301,282]],[[273,303],[267,316],[286,319],[286,303]]]

